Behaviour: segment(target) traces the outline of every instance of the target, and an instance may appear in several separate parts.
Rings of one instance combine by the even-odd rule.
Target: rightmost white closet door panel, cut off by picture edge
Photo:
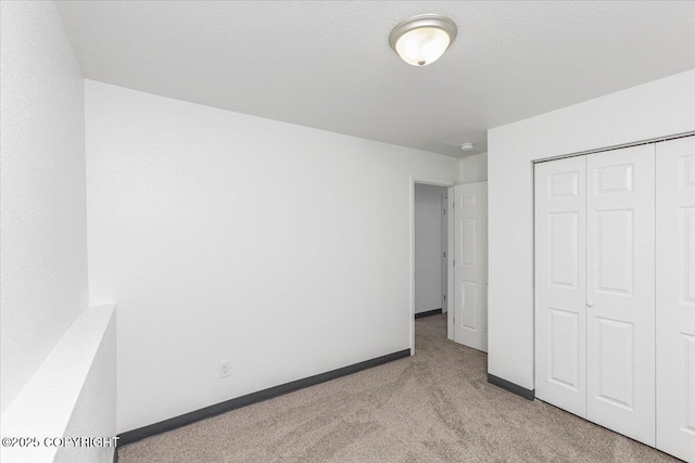
[[[656,447],[695,462],[695,137],[656,146]]]

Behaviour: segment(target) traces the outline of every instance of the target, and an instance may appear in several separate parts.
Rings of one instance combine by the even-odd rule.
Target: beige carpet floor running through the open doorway
[[[416,356],[119,450],[135,462],[669,462],[669,455],[486,382],[486,356],[416,321]]]

